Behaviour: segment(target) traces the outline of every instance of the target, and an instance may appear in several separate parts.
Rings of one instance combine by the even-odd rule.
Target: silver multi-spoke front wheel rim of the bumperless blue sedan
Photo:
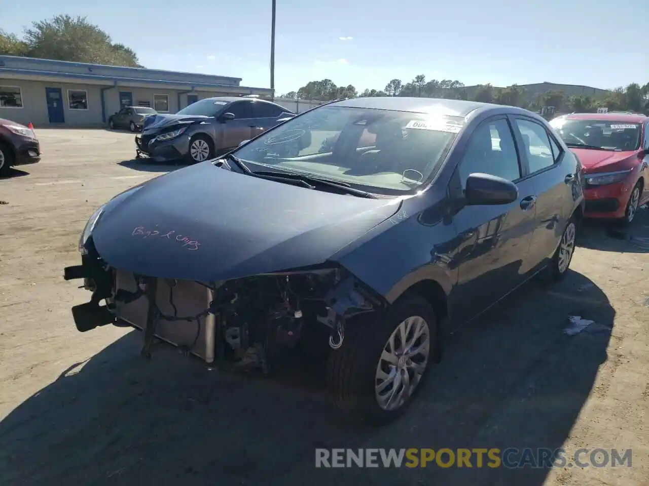
[[[386,411],[404,406],[421,382],[430,356],[428,323],[411,316],[392,332],[376,365],[374,395]]]

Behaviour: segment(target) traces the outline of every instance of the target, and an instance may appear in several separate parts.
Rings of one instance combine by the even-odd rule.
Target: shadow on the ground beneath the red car
[[[641,206],[626,227],[615,222],[584,220],[578,246],[600,251],[649,253],[649,207]]]

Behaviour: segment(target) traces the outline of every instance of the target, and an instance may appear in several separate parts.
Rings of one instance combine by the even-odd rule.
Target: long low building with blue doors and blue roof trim
[[[214,96],[273,98],[272,89],[240,82],[228,76],[0,56],[0,118],[36,127],[92,126],[106,123],[122,106],[175,113]]]

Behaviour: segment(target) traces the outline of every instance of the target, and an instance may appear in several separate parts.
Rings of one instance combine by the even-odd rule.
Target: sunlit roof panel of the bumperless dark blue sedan
[[[481,103],[478,101],[448,100],[445,98],[410,98],[410,97],[368,97],[350,98],[331,103],[333,106],[348,108],[370,108],[374,110],[406,111],[410,113],[442,112],[445,115],[465,117],[471,111],[503,108],[502,105]],[[513,107],[512,107],[513,108]]]

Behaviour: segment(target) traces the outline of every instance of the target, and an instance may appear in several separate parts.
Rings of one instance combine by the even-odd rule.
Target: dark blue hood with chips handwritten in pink
[[[116,196],[92,239],[99,255],[119,270],[213,282],[324,262],[399,205],[204,162]]]

